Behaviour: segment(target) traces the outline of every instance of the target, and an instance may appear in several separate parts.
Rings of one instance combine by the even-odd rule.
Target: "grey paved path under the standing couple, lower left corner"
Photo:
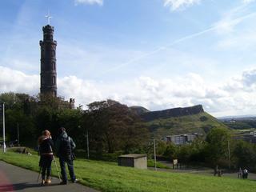
[[[38,173],[0,161],[0,192],[97,192],[97,190],[90,189],[78,183],[68,183],[65,186],[58,185],[58,178],[53,178],[50,186],[41,186],[37,180]]]

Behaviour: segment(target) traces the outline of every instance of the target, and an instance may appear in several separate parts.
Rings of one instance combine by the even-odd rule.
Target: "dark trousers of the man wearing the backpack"
[[[62,182],[67,182],[65,163],[67,164],[67,167],[68,167],[69,173],[70,173],[70,178],[71,178],[71,181],[73,182],[75,180],[73,160],[72,160],[71,156],[67,156],[67,157],[60,156],[59,164],[60,164],[61,170],[62,170],[61,171],[62,172]]]

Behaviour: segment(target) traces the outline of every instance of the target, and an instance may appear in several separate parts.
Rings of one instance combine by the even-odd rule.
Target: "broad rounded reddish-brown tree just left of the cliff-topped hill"
[[[113,100],[88,105],[84,126],[90,131],[90,142],[98,153],[116,150],[129,152],[145,142],[148,130],[129,107]]]

